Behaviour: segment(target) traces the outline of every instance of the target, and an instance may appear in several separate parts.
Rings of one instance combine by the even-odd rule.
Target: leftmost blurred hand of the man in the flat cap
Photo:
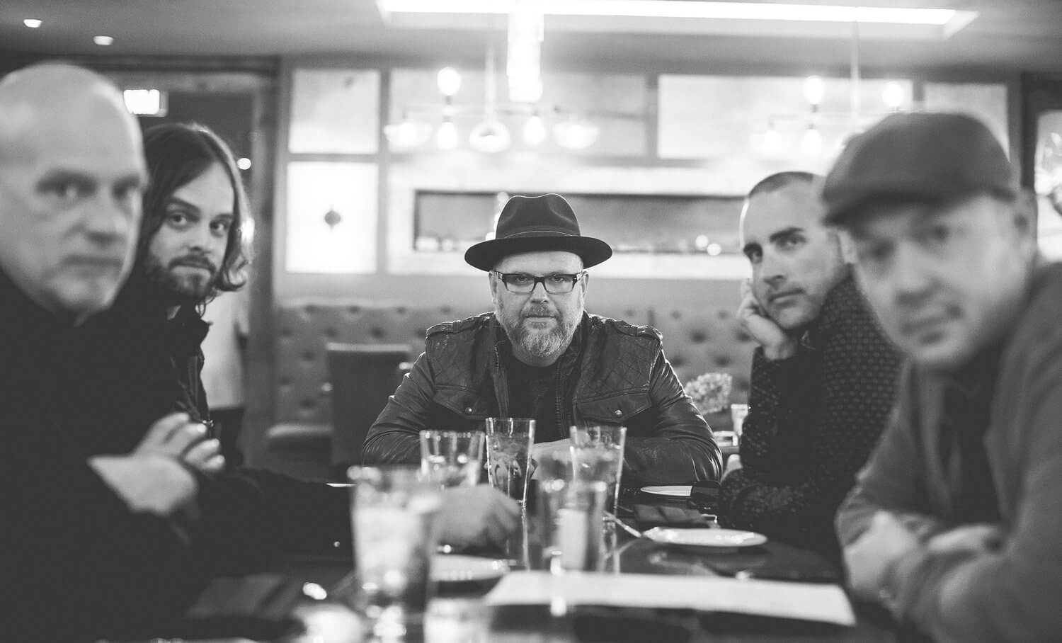
[[[867,531],[844,547],[852,591],[862,598],[877,600],[889,568],[919,546],[918,538],[893,513],[877,511]]]

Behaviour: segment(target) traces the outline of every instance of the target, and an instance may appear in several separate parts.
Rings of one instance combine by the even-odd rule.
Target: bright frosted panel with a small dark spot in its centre
[[[369,163],[288,164],[288,272],[376,272],[377,171]]]

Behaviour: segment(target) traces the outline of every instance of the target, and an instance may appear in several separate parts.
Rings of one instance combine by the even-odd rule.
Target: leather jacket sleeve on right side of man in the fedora
[[[663,352],[653,363],[649,396],[651,436],[628,437],[626,469],[650,485],[719,479],[719,446]]]

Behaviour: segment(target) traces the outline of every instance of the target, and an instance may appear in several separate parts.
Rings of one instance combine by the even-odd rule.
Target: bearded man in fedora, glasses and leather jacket
[[[562,197],[513,197],[495,238],[465,261],[487,272],[494,312],[432,326],[424,354],[369,430],[366,463],[419,461],[424,428],[472,430],[489,417],[536,420],[535,442],[573,424],[627,426],[624,477],[717,479],[719,447],[649,326],[588,315],[586,269],[612,256],[580,234]],[[537,446],[536,451],[549,449]]]

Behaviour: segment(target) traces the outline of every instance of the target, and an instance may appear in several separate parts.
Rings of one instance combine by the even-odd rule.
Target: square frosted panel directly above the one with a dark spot
[[[296,69],[288,150],[306,154],[373,154],[379,129],[380,73]]]

